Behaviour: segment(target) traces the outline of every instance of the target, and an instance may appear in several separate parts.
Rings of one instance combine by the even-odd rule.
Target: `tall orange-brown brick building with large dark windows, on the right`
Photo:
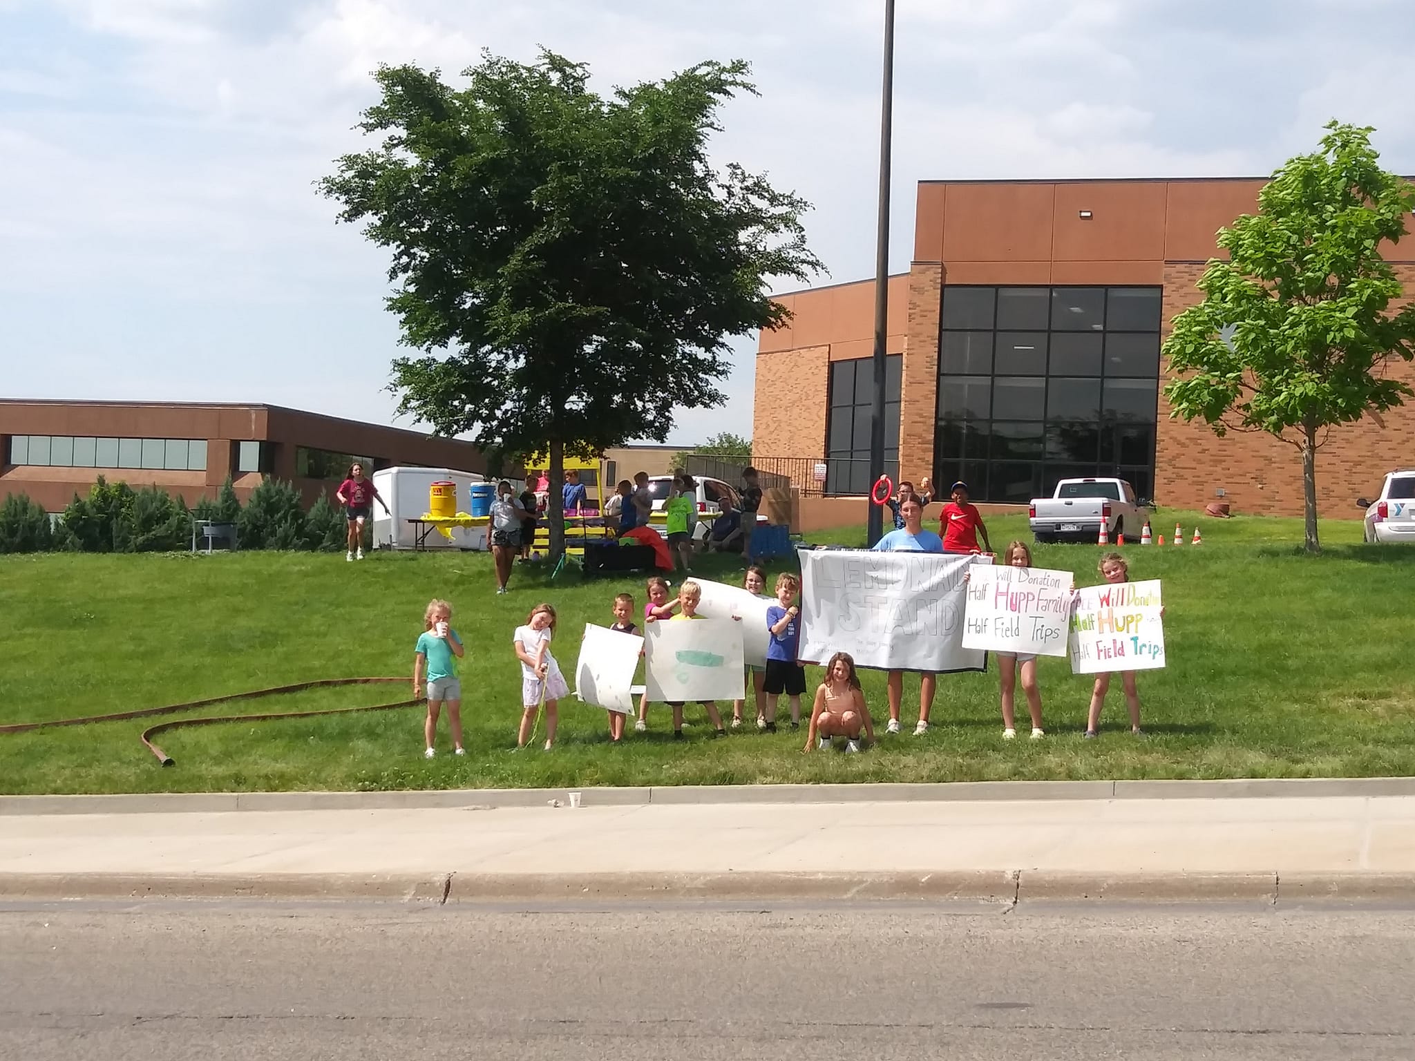
[[[1024,504],[1070,475],[1121,475],[1142,497],[1299,515],[1296,451],[1169,417],[1159,356],[1220,228],[1257,209],[1262,180],[925,181],[914,260],[890,280],[886,463],[891,478],[962,478]],[[1387,246],[1415,296],[1415,235]],[[869,485],[874,283],[782,294],[787,327],[757,355],[754,460],[828,465],[828,495]],[[1415,382],[1398,362],[1392,373]],[[784,400],[785,399],[785,400]],[[1323,511],[1415,464],[1415,406],[1332,430]],[[1350,509],[1350,511],[1347,511]]]

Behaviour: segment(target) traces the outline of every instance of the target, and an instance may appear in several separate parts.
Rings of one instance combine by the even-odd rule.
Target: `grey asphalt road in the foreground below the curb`
[[[1415,911],[0,907],[0,1057],[1415,1057]]]

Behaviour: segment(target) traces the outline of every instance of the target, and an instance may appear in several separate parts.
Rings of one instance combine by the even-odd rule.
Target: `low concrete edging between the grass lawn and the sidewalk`
[[[940,784],[658,785],[594,788],[584,806],[652,804],[859,804],[1016,799],[1255,799],[1415,795],[1415,778],[1232,778],[1223,781],[945,781]],[[400,792],[161,792],[0,795],[3,815],[221,813],[239,811],[498,809],[567,802],[563,788],[463,788]]]

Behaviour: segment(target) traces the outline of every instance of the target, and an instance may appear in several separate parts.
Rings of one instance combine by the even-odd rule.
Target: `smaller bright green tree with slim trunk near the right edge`
[[[1230,257],[1208,263],[1204,301],[1174,317],[1165,344],[1174,416],[1220,436],[1266,431],[1300,453],[1310,553],[1329,429],[1412,393],[1387,375],[1415,356],[1415,306],[1391,311],[1401,283],[1381,243],[1405,235],[1415,187],[1380,167],[1371,132],[1332,122],[1319,151],[1274,174],[1258,212],[1220,231]]]

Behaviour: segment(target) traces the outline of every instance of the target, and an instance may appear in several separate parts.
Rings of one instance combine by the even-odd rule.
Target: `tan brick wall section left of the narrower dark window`
[[[825,460],[829,347],[757,355],[751,456]]]

